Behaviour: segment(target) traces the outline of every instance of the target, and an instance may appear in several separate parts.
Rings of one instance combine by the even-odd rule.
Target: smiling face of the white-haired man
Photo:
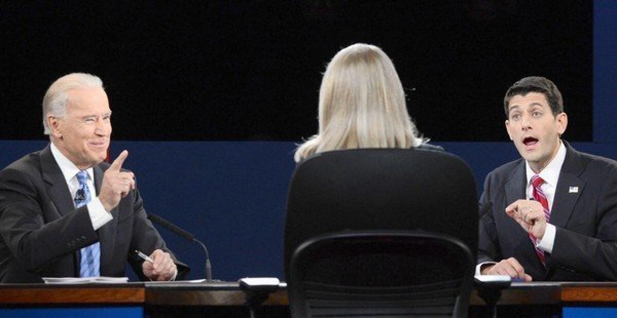
[[[98,87],[67,92],[64,117],[48,116],[54,145],[79,169],[88,169],[107,157],[112,133],[107,94]]]

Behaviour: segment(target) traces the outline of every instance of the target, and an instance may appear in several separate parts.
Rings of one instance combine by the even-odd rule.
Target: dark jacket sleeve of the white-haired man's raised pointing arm
[[[98,240],[87,207],[64,213],[64,217],[55,207],[43,210],[42,182],[19,169],[0,172],[2,243],[30,272],[42,272],[61,256]]]

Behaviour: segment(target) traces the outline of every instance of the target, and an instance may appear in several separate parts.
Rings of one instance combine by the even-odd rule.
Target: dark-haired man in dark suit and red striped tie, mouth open
[[[568,116],[549,79],[521,79],[503,106],[522,158],[486,177],[476,274],[617,280],[617,162],[561,140]]]

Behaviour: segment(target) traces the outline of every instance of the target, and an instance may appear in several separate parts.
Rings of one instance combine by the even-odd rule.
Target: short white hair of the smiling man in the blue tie
[[[103,88],[103,82],[97,76],[86,73],[71,73],[57,79],[49,86],[45,97],[43,97],[43,133],[51,135],[51,130],[47,122],[47,117],[52,116],[62,118],[67,112],[67,92],[72,89],[84,87]]]

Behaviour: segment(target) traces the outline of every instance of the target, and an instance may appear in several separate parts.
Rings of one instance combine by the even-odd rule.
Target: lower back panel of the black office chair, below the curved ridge
[[[466,317],[474,258],[442,234],[354,232],[307,240],[292,256],[292,317]]]

